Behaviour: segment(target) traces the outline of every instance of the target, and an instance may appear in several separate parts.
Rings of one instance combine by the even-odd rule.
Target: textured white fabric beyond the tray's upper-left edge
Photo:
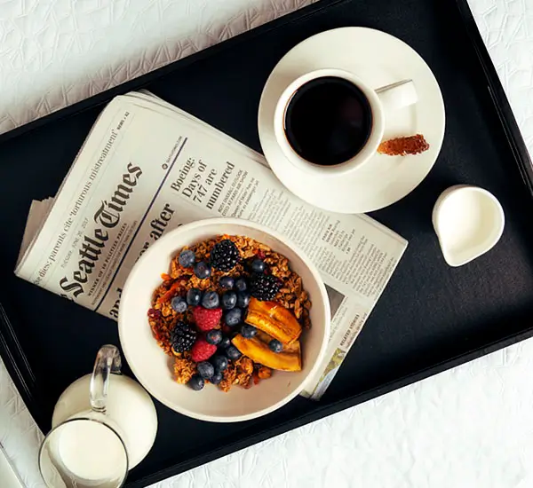
[[[0,133],[313,1],[0,0]]]

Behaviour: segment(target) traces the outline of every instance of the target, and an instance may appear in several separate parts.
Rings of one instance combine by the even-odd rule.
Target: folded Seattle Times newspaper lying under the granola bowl
[[[15,273],[117,319],[124,281],[139,256],[164,232],[210,216],[282,232],[322,273],[330,345],[304,393],[320,398],[407,241],[368,216],[299,200],[259,153],[149,92],[113,99],[55,198],[33,201]]]

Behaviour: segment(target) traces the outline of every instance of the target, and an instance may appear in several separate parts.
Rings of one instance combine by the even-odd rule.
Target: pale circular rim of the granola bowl
[[[299,256],[299,258],[302,260],[302,263],[306,265],[309,272],[311,272],[311,275],[313,276],[321,298],[322,303],[324,305],[324,327],[323,327],[323,335],[322,335],[322,343],[320,350],[316,356],[316,360],[314,361],[314,365],[309,370],[309,373],[306,374],[305,379],[298,385],[297,388],[295,388],[293,391],[290,392],[285,397],[282,397],[281,400],[274,403],[274,405],[267,406],[261,410],[258,410],[254,413],[246,413],[243,415],[228,415],[228,416],[217,416],[217,415],[209,415],[209,414],[203,414],[203,413],[197,413],[193,410],[189,410],[187,408],[184,408],[179,405],[174,405],[170,401],[167,401],[166,399],[160,398],[154,390],[150,388],[149,385],[145,384],[145,382],[141,382],[139,379],[139,368],[137,365],[134,365],[133,361],[131,360],[131,355],[126,347],[124,347],[124,339],[126,335],[126,327],[123,323],[123,317],[124,314],[121,313],[123,310],[123,303],[125,302],[124,297],[128,295],[130,288],[133,287],[133,280],[137,272],[139,272],[139,269],[141,267],[141,264],[143,264],[145,261],[150,259],[150,256],[156,252],[156,249],[160,246],[161,242],[166,240],[171,240],[176,234],[180,233],[187,233],[191,230],[194,230],[199,227],[203,227],[205,225],[240,225],[243,227],[249,227],[251,229],[254,229],[259,232],[265,232],[269,234],[270,236],[274,237],[275,240],[279,240],[286,246],[290,247],[292,251]],[[231,232],[227,232],[229,235],[231,235]],[[328,298],[328,294],[326,291],[326,288],[324,286],[322,277],[320,276],[320,272],[318,272],[318,269],[316,266],[310,261],[309,257],[306,256],[306,253],[304,253],[299,246],[295,245],[290,239],[287,239],[284,237],[280,232],[274,231],[274,229],[271,229],[270,227],[267,227],[263,224],[257,224],[255,222],[251,222],[250,220],[244,220],[242,218],[234,218],[234,217],[211,217],[211,218],[203,218],[200,220],[196,220],[194,222],[190,222],[188,224],[182,224],[179,225],[176,229],[173,229],[169,232],[166,232],[163,237],[156,240],[154,244],[152,244],[149,248],[147,248],[146,252],[143,253],[142,256],[140,256],[139,261],[131,268],[131,272],[128,274],[128,278],[126,279],[126,282],[123,286],[123,292],[120,300],[119,305],[119,311],[118,311],[118,335],[120,340],[121,349],[123,350],[124,358],[126,358],[126,361],[128,362],[128,365],[131,368],[131,372],[135,375],[137,381],[147,390],[147,392],[157,399],[157,401],[161,402],[163,405],[167,406],[171,410],[177,413],[181,413],[183,415],[187,415],[188,417],[191,417],[196,420],[200,421],[212,421],[212,422],[220,422],[220,423],[229,423],[229,422],[235,422],[235,421],[250,421],[252,419],[257,419],[259,417],[262,417],[263,415],[267,415],[267,413],[272,413],[278,408],[281,408],[283,405],[286,405],[292,400],[293,398],[297,397],[299,393],[301,393],[302,390],[305,389],[306,383],[309,381],[310,378],[313,378],[314,375],[317,373],[318,368],[322,365],[322,360],[325,356],[326,349],[328,347],[328,342],[330,339],[330,300]],[[162,350],[163,352],[163,350]],[[186,385],[180,385],[185,387]]]

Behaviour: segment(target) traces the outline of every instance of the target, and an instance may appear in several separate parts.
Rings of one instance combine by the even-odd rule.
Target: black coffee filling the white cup
[[[285,112],[290,146],[306,161],[330,166],[361,151],[372,128],[369,101],[353,83],[337,76],[302,85]]]

